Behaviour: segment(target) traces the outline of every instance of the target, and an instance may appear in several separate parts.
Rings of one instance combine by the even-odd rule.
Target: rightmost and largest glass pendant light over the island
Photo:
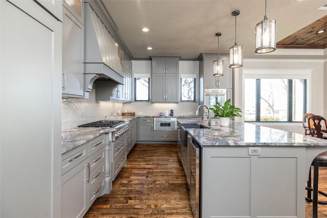
[[[276,20],[268,20],[267,0],[264,19],[255,26],[255,53],[264,54],[276,50]]]

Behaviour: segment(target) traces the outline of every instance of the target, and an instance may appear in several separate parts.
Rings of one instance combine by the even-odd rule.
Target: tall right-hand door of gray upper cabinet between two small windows
[[[178,102],[178,74],[166,74],[166,102]]]

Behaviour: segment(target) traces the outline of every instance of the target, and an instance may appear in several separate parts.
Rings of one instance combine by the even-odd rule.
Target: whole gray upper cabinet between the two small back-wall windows
[[[179,102],[179,57],[152,57],[151,102]]]

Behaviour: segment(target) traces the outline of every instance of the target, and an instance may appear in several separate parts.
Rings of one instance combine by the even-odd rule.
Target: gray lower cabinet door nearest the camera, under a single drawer
[[[88,159],[61,177],[61,217],[83,217],[88,210]]]

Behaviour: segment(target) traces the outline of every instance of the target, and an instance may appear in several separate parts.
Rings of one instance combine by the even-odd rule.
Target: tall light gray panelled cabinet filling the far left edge
[[[62,26],[49,12],[62,20],[62,2],[0,1],[1,217],[60,217]]]

